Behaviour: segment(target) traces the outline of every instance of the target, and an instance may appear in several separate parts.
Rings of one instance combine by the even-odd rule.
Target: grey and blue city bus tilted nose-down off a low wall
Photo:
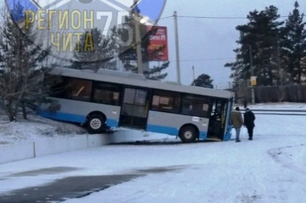
[[[54,68],[48,76],[56,80],[57,91],[38,114],[86,124],[89,133],[101,133],[107,126],[175,135],[182,142],[230,139],[232,92],[105,69]]]

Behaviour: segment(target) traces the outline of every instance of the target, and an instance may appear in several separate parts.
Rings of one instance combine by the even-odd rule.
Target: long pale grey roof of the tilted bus
[[[139,86],[174,92],[190,93],[196,95],[205,95],[219,98],[232,98],[233,92],[219,89],[211,89],[196,86],[178,85],[177,83],[161,82],[146,79],[144,75],[119,72],[114,70],[100,69],[98,72],[92,70],[78,70],[72,68],[53,68],[51,74],[76,77],[82,79],[111,82],[117,84]]]

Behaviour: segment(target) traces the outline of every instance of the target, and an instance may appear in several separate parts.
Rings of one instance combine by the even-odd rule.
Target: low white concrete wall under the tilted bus
[[[169,135],[149,134],[134,130],[120,130],[112,134],[78,135],[71,137],[45,138],[35,141],[0,144],[0,164],[23,159],[35,158],[90,147],[98,147],[110,143],[129,142],[165,138]]]

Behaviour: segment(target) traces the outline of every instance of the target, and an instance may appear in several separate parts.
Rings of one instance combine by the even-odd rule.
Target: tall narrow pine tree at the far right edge
[[[296,1],[294,10],[286,20],[284,33],[284,66],[291,76],[291,81],[301,84],[302,76],[306,76],[306,68],[301,66],[301,59],[306,56],[306,30],[303,22],[304,14],[300,14],[299,3]]]

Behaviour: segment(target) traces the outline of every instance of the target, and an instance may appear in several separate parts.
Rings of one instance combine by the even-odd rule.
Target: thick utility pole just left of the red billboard
[[[143,74],[142,54],[141,54],[141,37],[140,37],[140,29],[139,29],[139,13],[137,11],[137,0],[134,0],[134,22],[135,22],[135,40],[136,40],[138,73]]]

